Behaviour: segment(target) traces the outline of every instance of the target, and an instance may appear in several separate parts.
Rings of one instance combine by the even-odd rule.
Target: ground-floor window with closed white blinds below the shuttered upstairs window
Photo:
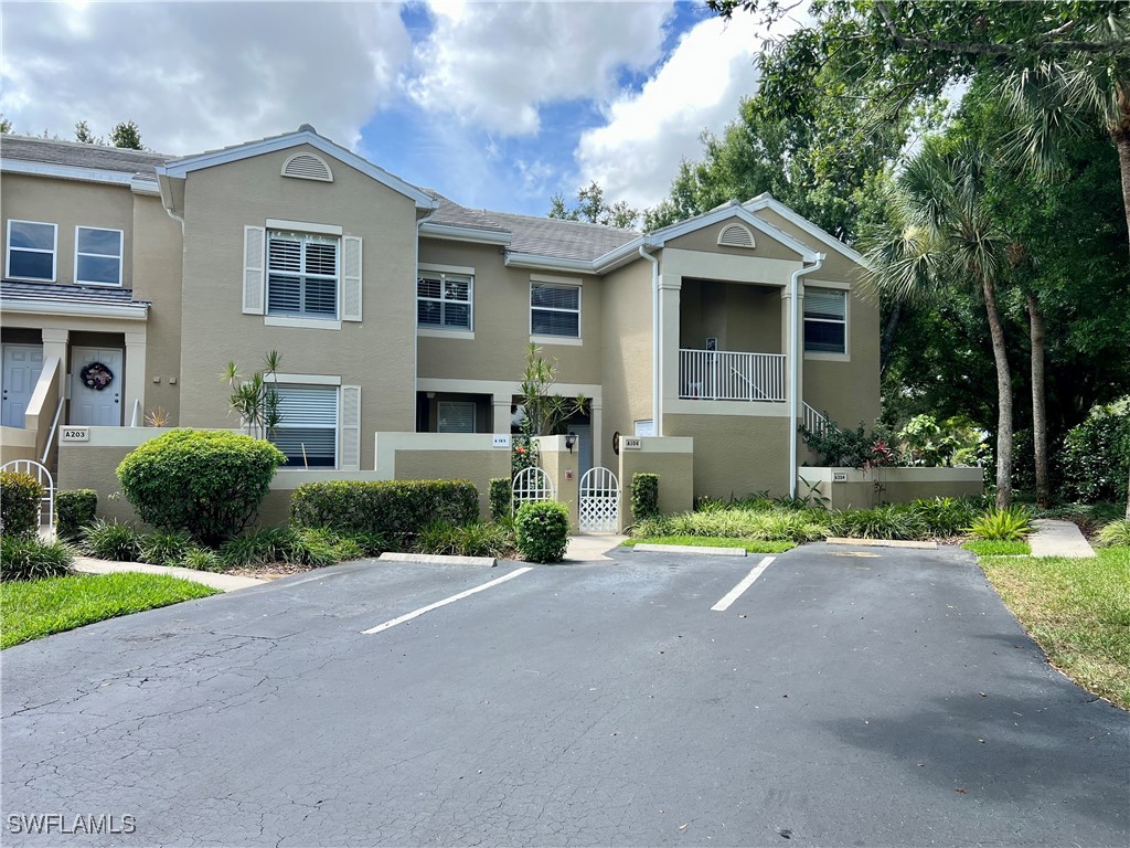
[[[275,387],[281,421],[271,441],[287,465],[303,468],[333,468],[338,458],[338,387]]]

